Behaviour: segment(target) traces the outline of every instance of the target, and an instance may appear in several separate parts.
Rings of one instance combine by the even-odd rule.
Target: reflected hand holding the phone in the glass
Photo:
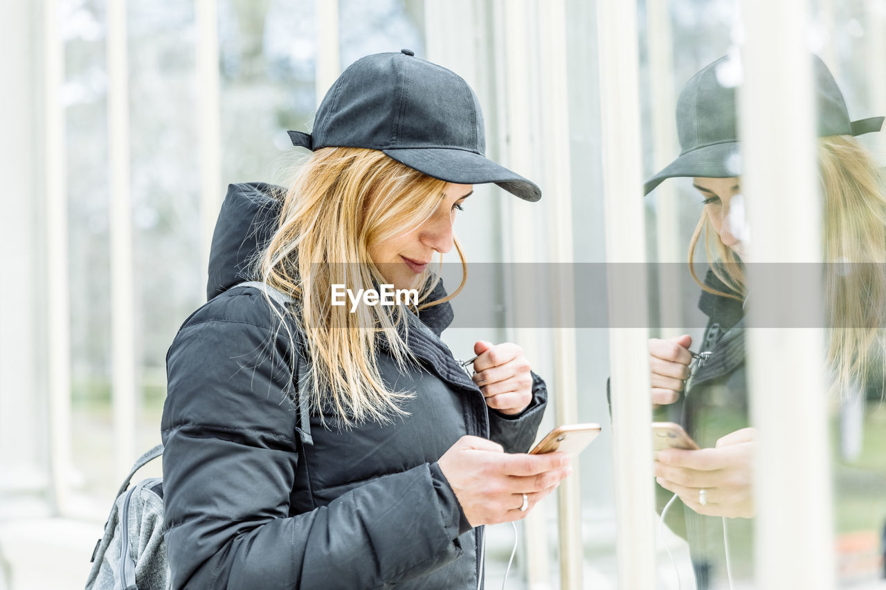
[[[742,428],[719,439],[715,448],[659,451],[656,481],[698,514],[752,518],[754,435],[753,428]]]

